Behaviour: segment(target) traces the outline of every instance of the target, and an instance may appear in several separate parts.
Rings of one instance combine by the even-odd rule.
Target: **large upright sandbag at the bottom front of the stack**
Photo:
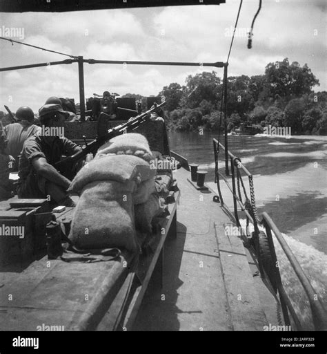
[[[134,191],[134,181],[96,181],[83,187],[72,218],[72,243],[81,249],[125,248],[138,252]]]

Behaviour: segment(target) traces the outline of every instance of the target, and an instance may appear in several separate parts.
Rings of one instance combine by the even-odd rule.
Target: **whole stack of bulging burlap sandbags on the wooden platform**
[[[151,232],[152,218],[163,210],[150,156],[146,138],[123,134],[79,171],[69,189],[80,194],[70,230],[78,248],[139,251],[136,229]]]

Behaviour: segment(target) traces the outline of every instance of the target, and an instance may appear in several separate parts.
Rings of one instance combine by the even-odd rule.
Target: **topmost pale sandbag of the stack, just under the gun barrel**
[[[115,136],[115,138],[110,139],[99,148],[97,156],[108,153],[135,155],[148,162],[152,160],[148,140],[138,133],[126,133]]]

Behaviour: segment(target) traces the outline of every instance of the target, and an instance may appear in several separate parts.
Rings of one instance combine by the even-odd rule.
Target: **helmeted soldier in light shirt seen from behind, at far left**
[[[3,129],[3,133],[8,140],[8,153],[16,160],[13,167],[14,171],[18,171],[19,155],[21,149],[23,149],[23,143],[41,129],[33,124],[34,113],[28,106],[21,106],[17,109],[16,119],[17,122],[8,124]]]

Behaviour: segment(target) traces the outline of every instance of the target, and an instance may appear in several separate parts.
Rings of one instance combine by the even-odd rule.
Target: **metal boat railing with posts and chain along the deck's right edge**
[[[286,257],[288,258],[290,265],[292,266],[295,274],[297,275],[297,278],[299,279],[301,286],[304,288],[304,291],[306,292],[306,296],[308,297],[308,301],[310,304],[310,310],[312,313],[313,325],[315,327],[315,330],[327,330],[326,309],[321,304],[317,292],[315,292],[308,277],[304,273],[304,270],[301,268],[301,265],[297,261],[295,255],[293,254],[288,244],[286,243],[284,236],[281,234],[278,227],[273,222],[272,218],[270,218],[270,216],[266,212],[263,212],[260,215],[257,212],[257,207],[255,205],[255,189],[254,189],[252,174],[250,174],[248,169],[244,167],[244,165],[241,162],[241,159],[238,158],[237,156],[234,156],[230,151],[225,151],[224,145],[221,145],[221,143],[217,139],[213,139],[213,148],[215,154],[215,183],[217,183],[217,189],[218,189],[218,195],[219,195],[219,201],[221,203],[221,207],[225,209],[228,212],[228,214],[230,214],[233,217],[233,220],[235,221],[238,227],[241,227],[241,223],[239,222],[238,206],[240,207],[241,212],[245,213],[246,231],[241,232],[241,236],[244,239],[246,245],[248,246],[248,250],[252,255],[253,259],[255,260],[257,267],[259,268],[259,272],[261,274],[262,280],[264,281],[264,283],[266,284],[270,292],[273,293],[275,299],[277,301],[280,301],[281,310],[284,316],[284,323],[286,324],[286,326],[290,326],[290,315],[291,315],[296,329],[302,330],[299,317],[295,313],[293,305],[288,295],[286,294],[283,283],[281,282],[279,263],[277,260],[274,241],[273,241],[273,234],[275,234],[277,241],[281,245],[281,249],[286,254]],[[230,185],[230,180],[228,180],[226,176],[224,176],[224,174],[221,174],[221,172],[219,171],[219,149],[223,149],[225,153],[227,152],[225,156],[228,156],[228,160],[230,162],[231,185]],[[248,187],[250,191],[250,196],[248,196],[248,193],[246,192],[246,187],[244,185],[244,180],[242,178],[241,173],[248,178]],[[228,189],[230,189],[230,192],[232,193],[234,215],[232,214],[228,206],[224,203],[224,198],[221,194],[221,185],[220,185],[221,180],[225,181],[226,186],[228,187]],[[252,232],[251,234],[248,234],[249,223],[252,223],[254,228],[254,232]],[[261,228],[264,228],[265,230],[264,236],[266,236],[266,239],[268,241],[271,264],[275,265],[274,266],[275,269],[273,270],[271,269],[271,267],[269,268],[264,265],[263,254],[262,252],[260,252],[261,246],[259,244],[260,243],[259,234],[262,234],[262,231],[259,231],[259,226]],[[243,230],[243,227],[241,227],[241,229]],[[273,286],[273,284],[275,286]],[[279,300],[277,297],[277,293],[279,295]]]

